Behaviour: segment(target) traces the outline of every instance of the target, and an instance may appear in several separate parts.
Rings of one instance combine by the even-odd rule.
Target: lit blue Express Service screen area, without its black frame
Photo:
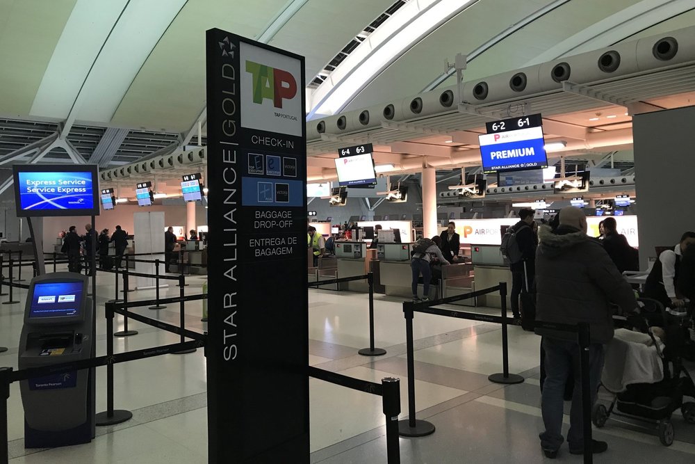
[[[19,206],[23,210],[93,209],[91,173],[19,172]]]

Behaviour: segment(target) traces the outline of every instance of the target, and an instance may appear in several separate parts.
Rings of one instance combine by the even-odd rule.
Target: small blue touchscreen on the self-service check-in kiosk
[[[82,282],[39,282],[34,294],[29,317],[79,316],[82,303]]]

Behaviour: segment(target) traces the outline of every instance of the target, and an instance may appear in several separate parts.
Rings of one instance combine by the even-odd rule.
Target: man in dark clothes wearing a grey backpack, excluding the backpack
[[[533,287],[536,267],[536,239],[531,227],[533,216],[533,209],[523,208],[519,211],[518,223],[512,225],[512,229],[516,233],[516,243],[522,255],[520,262],[509,264],[509,268],[512,269],[512,291],[509,298],[512,301],[514,318],[517,320],[521,319],[519,295],[522,291],[530,290]],[[524,279],[528,280],[524,282]]]

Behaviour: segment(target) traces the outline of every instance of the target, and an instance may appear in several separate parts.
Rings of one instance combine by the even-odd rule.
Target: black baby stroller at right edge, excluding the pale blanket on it
[[[654,383],[633,383],[627,385],[625,391],[615,392],[606,387],[604,371],[601,385],[613,395],[613,399],[607,408],[598,402],[594,405],[591,422],[601,428],[611,415],[651,422],[657,424],[662,445],[670,446],[675,435],[671,424],[673,411],[680,408],[685,421],[695,424],[695,403],[683,401],[685,396],[695,397],[692,378],[682,365],[682,350],[686,339],[680,326],[669,323],[669,315],[660,302],[649,298],[639,298],[638,301],[641,305],[639,316],[623,318],[622,323],[616,321],[616,326],[628,326],[651,337],[663,367],[663,380]],[[655,320],[664,321],[664,345],[660,345],[649,330],[649,324]],[[606,369],[610,367],[606,365]]]

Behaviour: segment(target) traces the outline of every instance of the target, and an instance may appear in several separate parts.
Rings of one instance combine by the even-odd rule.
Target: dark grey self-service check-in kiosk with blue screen
[[[51,273],[31,280],[19,369],[93,358],[92,305],[85,275]],[[20,382],[24,446],[58,447],[95,436],[94,369],[63,371]]]

